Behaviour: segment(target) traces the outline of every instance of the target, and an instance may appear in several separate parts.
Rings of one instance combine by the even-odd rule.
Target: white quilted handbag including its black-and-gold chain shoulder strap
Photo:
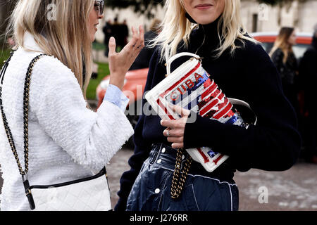
[[[4,73],[8,67],[8,63],[11,60],[13,53],[10,58],[4,63],[4,67],[0,72],[1,84],[4,79]],[[15,148],[13,136],[11,134],[10,127],[8,127],[8,121],[4,113],[2,105],[2,86],[0,86],[0,106],[1,116],[4,121],[4,128],[8,137],[8,143],[11,146],[11,150],[18,164],[18,169],[22,175],[22,181],[25,188],[25,194],[30,204],[31,210],[37,211],[108,211],[111,210],[111,198],[106,177],[106,167],[94,175],[84,179],[78,179],[75,181],[69,181],[61,184],[52,184],[48,186],[34,185],[30,186],[28,181],[28,106],[29,106],[29,94],[30,94],[30,78],[32,74],[32,68],[41,58],[46,56],[41,54],[35,57],[27,69],[25,77],[25,89],[23,98],[23,124],[24,124],[24,143],[25,143],[25,170],[23,171],[18,158],[18,153]],[[2,77],[3,76],[3,77]],[[2,79],[1,79],[2,77]]]

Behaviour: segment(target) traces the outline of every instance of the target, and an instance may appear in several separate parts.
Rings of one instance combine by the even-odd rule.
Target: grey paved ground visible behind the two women
[[[119,179],[130,169],[128,159],[132,150],[122,149],[107,166],[111,188],[111,203],[118,201]],[[315,210],[317,211],[317,165],[297,162],[285,172],[263,172],[251,169],[237,172],[235,181],[240,190],[240,210]],[[0,178],[0,186],[2,180]],[[267,191],[268,198],[261,193]],[[260,199],[259,199],[260,198]],[[267,203],[259,203],[266,202]]]

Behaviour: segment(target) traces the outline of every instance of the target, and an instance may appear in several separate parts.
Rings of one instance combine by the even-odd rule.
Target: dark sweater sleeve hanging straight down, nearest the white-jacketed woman
[[[157,63],[158,52],[154,51],[149,64],[149,74],[147,77],[147,83],[144,88],[144,92],[151,89],[152,77],[154,77],[154,72],[156,72],[156,67],[159,65]],[[143,98],[142,108],[147,101]],[[124,172],[120,179],[120,191],[118,191],[119,200],[114,208],[116,211],[124,211],[127,205],[128,195],[130,194],[131,188],[139,174],[144,160],[149,157],[149,150],[151,148],[151,143],[143,138],[144,130],[144,112],[142,110],[142,115],[139,117],[137,125],[135,126],[135,134],[133,136],[133,142],[135,143],[135,152],[129,159],[128,163],[131,169]]]

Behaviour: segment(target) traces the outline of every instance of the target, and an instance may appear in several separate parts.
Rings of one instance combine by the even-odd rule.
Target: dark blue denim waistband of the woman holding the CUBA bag
[[[178,150],[175,148],[171,148],[170,146],[166,146],[163,143],[152,144],[151,151],[149,153],[149,158],[147,158],[146,162],[154,165],[155,167],[162,167],[165,169],[174,170],[175,162],[177,157]],[[181,168],[185,165],[185,161],[189,157],[189,154],[185,150],[182,154]],[[189,174],[193,175],[201,175],[208,176],[211,178],[219,179],[220,181],[228,181],[231,184],[235,183],[233,181],[233,172],[225,168],[225,165],[220,165],[213,172],[207,172],[206,169],[199,163],[192,161],[192,165],[189,169]]]

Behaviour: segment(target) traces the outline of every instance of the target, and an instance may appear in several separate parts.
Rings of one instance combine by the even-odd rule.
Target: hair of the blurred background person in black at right
[[[288,39],[290,39],[293,32],[293,27],[282,27],[280,29],[278,37],[276,37],[273,48],[269,54],[271,57],[277,49],[281,49],[284,53],[283,63],[286,63],[288,55],[293,52],[292,45],[288,43]]]

